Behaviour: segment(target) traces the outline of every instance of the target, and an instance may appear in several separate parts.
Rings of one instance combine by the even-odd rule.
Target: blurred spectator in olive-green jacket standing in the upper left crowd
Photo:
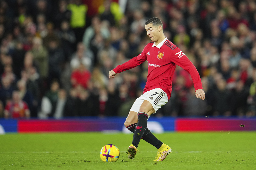
[[[47,79],[49,72],[48,50],[43,46],[43,41],[40,37],[33,38],[33,47],[30,50],[33,55],[33,61],[38,68],[40,76]]]

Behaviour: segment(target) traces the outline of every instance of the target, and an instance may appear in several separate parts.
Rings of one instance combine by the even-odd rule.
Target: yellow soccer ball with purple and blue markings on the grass
[[[115,162],[120,155],[119,149],[112,144],[105,145],[100,150],[100,159],[103,162]]]

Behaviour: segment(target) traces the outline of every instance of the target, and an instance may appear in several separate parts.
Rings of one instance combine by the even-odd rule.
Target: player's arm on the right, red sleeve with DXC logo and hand
[[[190,74],[194,83],[194,88],[196,90],[196,97],[204,100],[205,92],[202,87],[201,78],[194,64],[179,48],[173,50],[173,53],[170,56],[170,60]]]

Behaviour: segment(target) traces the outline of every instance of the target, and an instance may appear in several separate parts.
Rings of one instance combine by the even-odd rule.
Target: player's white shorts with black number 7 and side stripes
[[[144,100],[149,101],[155,112],[164,106],[168,102],[167,94],[161,88],[155,88],[153,90],[147,91],[138,97],[133,103],[130,111],[139,112],[140,106]]]

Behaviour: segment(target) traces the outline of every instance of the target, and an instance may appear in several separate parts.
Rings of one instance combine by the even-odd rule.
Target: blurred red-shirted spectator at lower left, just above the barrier
[[[4,110],[5,118],[20,118],[20,117],[30,117],[30,111],[28,105],[23,101],[18,91],[13,91],[12,100],[7,102]]]

